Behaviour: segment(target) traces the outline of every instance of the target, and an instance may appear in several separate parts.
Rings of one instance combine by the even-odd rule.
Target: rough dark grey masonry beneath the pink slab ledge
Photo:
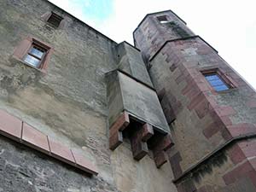
[[[0,148],[0,191],[118,192],[102,177],[89,177],[5,137],[0,137]]]

